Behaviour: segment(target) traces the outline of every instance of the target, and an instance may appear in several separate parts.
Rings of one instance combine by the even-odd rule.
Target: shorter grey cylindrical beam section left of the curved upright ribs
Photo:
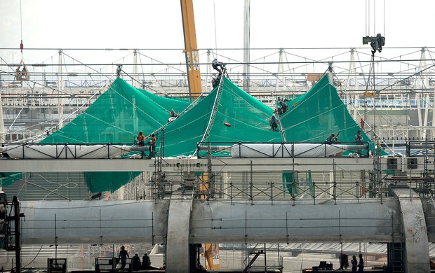
[[[22,244],[161,243],[169,202],[21,202]]]

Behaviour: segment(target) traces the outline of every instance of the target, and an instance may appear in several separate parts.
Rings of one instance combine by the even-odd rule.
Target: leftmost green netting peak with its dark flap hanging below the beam
[[[71,123],[53,132],[41,144],[133,144],[139,131],[148,136],[168,122],[170,110],[180,113],[189,106],[180,99],[138,90],[116,78],[106,92]],[[93,193],[114,191],[140,172],[88,172],[86,183]]]

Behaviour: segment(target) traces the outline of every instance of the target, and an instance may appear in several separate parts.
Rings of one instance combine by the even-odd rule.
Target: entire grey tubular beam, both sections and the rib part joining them
[[[174,244],[170,238],[187,236],[189,244],[403,239],[392,236],[401,232],[396,198],[193,200],[191,216],[190,205],[188,200],[22,202],[22,241],[53,244],[55,236],[59,244]]]

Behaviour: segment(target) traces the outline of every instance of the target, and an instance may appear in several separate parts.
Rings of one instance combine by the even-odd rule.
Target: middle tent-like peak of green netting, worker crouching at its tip
[[[165,156],[178,156],[193,155],[200,141],[281,142],[281,132],[270,129],[272,113],[268,106],[223,78],[221,87],[166,126],[161,148],[164,146]]]

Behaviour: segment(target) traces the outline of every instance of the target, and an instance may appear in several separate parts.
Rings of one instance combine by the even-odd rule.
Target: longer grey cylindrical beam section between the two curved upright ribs
[[[396,199],[195,200],[191,243],[389,242],[400,233]]]

